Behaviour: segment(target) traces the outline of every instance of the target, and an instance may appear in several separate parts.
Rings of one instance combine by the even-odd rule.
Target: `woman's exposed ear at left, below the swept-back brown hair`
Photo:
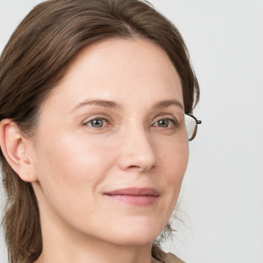
[[[17,124],[11,119],[1,121],[0,146],[7,162],[22,180],[37,181],[30,156],[32,143],[21,135]]]

